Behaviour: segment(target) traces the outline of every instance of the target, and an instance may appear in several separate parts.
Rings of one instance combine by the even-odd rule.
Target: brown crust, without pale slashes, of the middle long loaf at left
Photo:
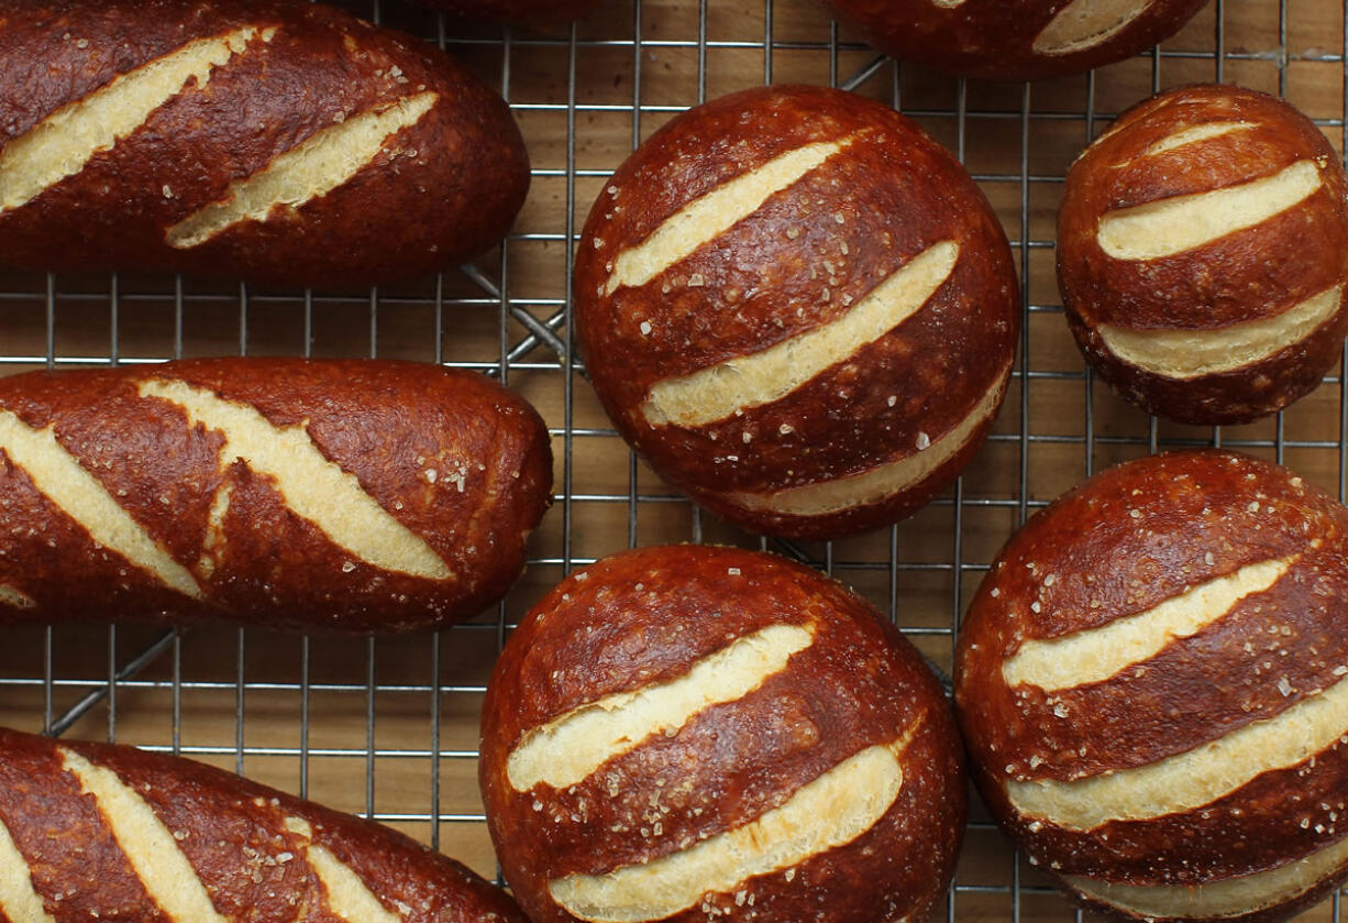
[[[452,576],[388,571],[336,545],[287,506],[270,475],[222,460],[218,430],[189,425],[168,401],[140,397],[147,379],[252,405],[278,428],[305,426],[322,456],[425,540]],[[97,545],[0,447],[0,586],[36,603],[0,606],[0,621],[434,627],[506,594],[551,502],[551,451],[534,409],[481,375],[433,364],[204,359],[30,372],[0,381],[0,410],[32,429],[54,426],[61,447],[202,590],[193,600]],[[228,513],[213,537],[212,505],[226,490]],[[210,572],[200,565],[208,547]]]

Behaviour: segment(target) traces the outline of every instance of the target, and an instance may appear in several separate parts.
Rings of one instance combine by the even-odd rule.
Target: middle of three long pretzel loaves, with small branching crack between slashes
[[[550,502],[547,430],[433,364],[204,359],[0,381],[0,622],[476,614]]]

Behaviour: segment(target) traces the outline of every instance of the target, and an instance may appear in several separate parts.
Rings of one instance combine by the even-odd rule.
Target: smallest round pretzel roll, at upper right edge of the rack
[[[1086,359],[1148,413],[1233,424],[1306,394],[1348,332],[1344,171],[1282,100],[1185,86],[1068,173],[1058,285]]]

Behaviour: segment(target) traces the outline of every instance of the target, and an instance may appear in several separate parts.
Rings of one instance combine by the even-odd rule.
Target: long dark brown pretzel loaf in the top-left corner
[[[510,109],[302,0],[0,0],[0,260],[369,285],[492,247]]]

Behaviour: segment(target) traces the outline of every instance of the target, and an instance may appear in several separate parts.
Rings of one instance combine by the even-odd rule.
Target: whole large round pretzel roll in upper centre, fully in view
[[[981,445],[1019,327],[1006,235],[964,169],[879,103],[745,90],[613,174],[576,331],[619,432],[748,529],[887,525]]]

